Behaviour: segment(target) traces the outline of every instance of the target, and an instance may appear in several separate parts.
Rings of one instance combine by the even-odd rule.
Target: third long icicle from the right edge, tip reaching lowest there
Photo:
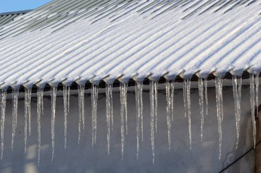
[[[216,86],[216,116],[218,119],[218,134],[219,134],[219,155],[218,159],[221,159],[221,148],[222,148],[222,115],[223,115],[223,109],[222,109],[222,87],[223,87],[223,79],[220,77],[216,77],[215,79],[215,86]]]

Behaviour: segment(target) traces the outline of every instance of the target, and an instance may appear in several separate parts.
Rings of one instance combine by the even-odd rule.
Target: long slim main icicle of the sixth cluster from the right
[[[171,109],[171,96],[170,96],[170,81],[166,81],[166,110],[167,110],[167,127],[168,127],[168,150],[170,150],[170,130],[171,130],[171,124],[170,124],[170,109]]]

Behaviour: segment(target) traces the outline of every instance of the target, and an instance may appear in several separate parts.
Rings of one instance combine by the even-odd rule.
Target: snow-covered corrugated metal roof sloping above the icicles
[[[260,1],[52,1],[0,29],[0,83],[261,70]]]

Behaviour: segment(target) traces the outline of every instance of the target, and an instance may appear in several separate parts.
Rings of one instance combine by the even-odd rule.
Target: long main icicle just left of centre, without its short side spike
[[[122,160],[124,157],[124,146],[125,146],[125,132],[124,132],[124,123],[126,123],[126,109],[125,109],[125,84],[120,83],[120,103],[121,103],[121,134],[122,134]]]

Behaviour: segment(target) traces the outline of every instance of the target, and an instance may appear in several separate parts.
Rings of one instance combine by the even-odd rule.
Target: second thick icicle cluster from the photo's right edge
[[[235,105],[235,117],[236,117],[236,148],[238,148],[239,133],[240,133],[240,103],[241,103],[241,77],[232,77],[233,96]]]

